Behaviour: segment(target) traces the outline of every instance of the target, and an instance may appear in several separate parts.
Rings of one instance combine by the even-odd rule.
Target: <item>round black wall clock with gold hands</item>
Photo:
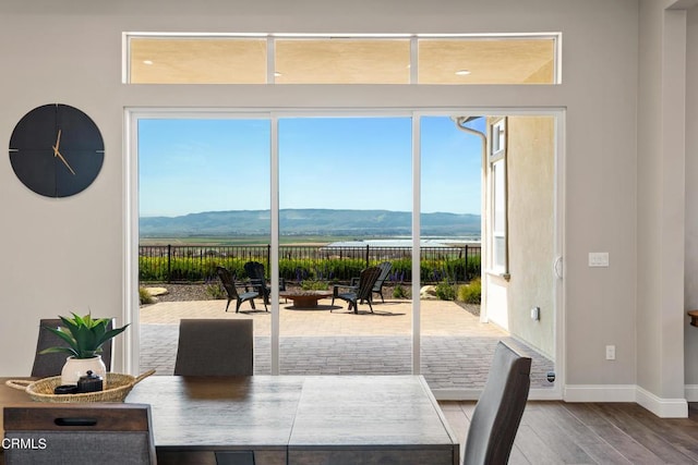
[[[51,103],[20,120],[10,138],[16,176],[37,194],[68,197],[99,174],[105,144],[97,125],[76,108]]]

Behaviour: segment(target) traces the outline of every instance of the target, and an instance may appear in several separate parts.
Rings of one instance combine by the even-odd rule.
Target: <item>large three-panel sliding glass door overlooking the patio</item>
[[[559,392],[559,115],[131,121],[137,279],[169,291],[133,311],[140,371],[172,372],[181,318],[245,318],[255,374],[421,374],[473,399],[505,339]],[[218,267],[257,295],[231,297]]]

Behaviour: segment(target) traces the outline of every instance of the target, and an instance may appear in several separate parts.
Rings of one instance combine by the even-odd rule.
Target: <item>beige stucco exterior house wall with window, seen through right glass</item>
[[[488,150],[493,228],[488,238],[489,272],[483,278],[488,280],[486,316],[490,325],[507,332],[512,346],[532,358],[531,390],[550,391],[556,378],[558,282],[553,268],[555,117],[507,115],[504,120],[505,124],[502,117],[486,119],[493,139],[503,140]],[[504,135],[497,137],[502,129]],[[502,150],[504,158],[497,155]]]

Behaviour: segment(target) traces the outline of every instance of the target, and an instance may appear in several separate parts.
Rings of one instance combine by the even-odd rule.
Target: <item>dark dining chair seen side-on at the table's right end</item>
[[[464,465],[506,464],[531,384],[531,358],[500,341],[472,414]]]

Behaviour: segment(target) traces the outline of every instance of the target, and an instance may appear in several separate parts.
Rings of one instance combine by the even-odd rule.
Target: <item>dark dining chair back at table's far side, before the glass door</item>
[[[252,376],[253,346],[251,319],[182,319],[174,375]]]

